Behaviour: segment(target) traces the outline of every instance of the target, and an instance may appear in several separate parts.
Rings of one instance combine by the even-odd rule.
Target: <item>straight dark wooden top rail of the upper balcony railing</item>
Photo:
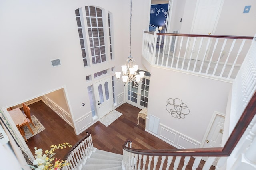
[[[154,32],[144,31],[144,33],[154,34]],[[208,37],[208,38],[228,38],[228,39],[253,39],[251,36],[235,35],[202,35],[202,34],[175,34],[175,33],[157,33],[156,35],[179,36],[179,37]]]

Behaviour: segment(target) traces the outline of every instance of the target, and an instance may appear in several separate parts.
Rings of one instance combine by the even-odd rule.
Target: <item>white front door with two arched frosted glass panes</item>
[[[110,78],[95,83],[96,106],[99,119],[113,110],[112,86]]]

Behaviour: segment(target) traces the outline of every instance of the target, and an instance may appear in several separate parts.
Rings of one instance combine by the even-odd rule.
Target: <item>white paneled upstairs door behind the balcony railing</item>
[[[224,0],[198,0],[191,33],[212,35],[216,29],[223,2]],[[190,50],[193,49],[192,59],[203,60],[205,53],[209,52],[206,51],[208,38],[197,38],[195,42],[194,47],[192,47],[192,40],[190,43]],[[211,42],[208,49],[210,49],[210,46]]]

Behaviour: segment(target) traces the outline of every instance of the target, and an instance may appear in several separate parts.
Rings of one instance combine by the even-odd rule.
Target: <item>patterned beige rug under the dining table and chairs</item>
[[[26,139],[29,139],[31,138],[32,136],[38,134],[39,132],[42,132],[45,128],[44,126],[40,123],[40,121],[38,121],[38,119],[36,118],[36,116],[32,115],[31,116],[31,119],[32,119],[32,122],[34,123],[35,127],[29,123],[32,131],[34,132],[34,134],[32,135],[32,133],[29,131],[28,127],[27,126],[23,126],[22,128],[24,129],[24,132],[25,132],[25,136],[26,136]]]

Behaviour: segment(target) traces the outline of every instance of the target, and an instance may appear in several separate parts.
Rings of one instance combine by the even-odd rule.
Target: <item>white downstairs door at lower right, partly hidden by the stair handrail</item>
[[[216,114],[212,126],[210,127],[210,131],[204,142],[204,148],[221,147],[224,121],[225,117],[223,115]],[[204,158],[202,159],[204,160]],[[214,166],[218,162],[218,159],[219,158],[216,158],[215,161],[213,162]]]

